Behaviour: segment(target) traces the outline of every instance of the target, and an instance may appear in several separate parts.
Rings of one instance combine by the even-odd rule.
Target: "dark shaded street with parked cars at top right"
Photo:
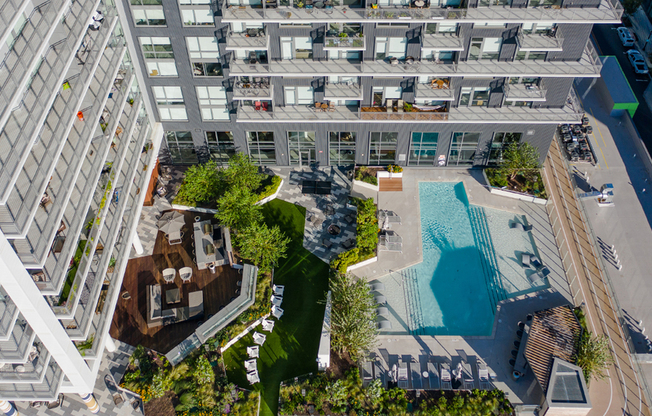
[[[598,53],[601,56],[613,55],[618,58],[618,62],[627,77],[629,85],[632,87],[636,99],[638,100],[638,110],[634,115],[633,121],[638,129],[645,147],[652,154],[652,112],[645,102],[643,93],[650,85],[650,75],[636,75],[634,69],[625,55],[625,48],[620,39],[616,28],[620,25],[593,25],[593,39],[597,43]],[[608,81],[607,81],[608,82]]]

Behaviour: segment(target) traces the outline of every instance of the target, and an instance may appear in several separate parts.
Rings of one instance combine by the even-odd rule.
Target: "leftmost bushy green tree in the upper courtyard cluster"
[[[220,190],[220,178],[215,162],[194,165],[186,171],[175,202],[196,206],[198,203],[215,201]]]

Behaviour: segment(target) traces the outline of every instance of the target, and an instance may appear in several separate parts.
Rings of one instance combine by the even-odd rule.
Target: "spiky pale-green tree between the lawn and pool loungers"
[[[376,302],[364,279],[331,275],[331,347],[358,361],[376,345]]]

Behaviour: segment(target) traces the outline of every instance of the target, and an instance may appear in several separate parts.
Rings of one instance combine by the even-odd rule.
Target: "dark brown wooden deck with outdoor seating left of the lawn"
[[[156,237],[154,252],[151,256],[129,260],[125,271],[120,293],[129,292],[131,299],[118,299],[110,334],[127,344],[137,346],[142,344],[161,353],[167,353],[178,343],[187,338],[198,326],[200,321],[185,321],[168,326],[147,328],[145,316],[147,313],[147,285],[161,284],[163,286],[163,309],[188,306],[188,292],[201,290],[204,296],[204,319],[215,314],[222,306],[226,306],[236,296],[237,281],[241,279],[238,270],[231,266],[217,268],[216,273],[210,270],[198,270],[192,255],[192,223],[195,216],[202,220],[210,219],[211,214],[197,214],[181,211],[184,214],[183,243],[171,246],[165,235],[159,232]],[[177,277],[172,284],[163,284],[162,270],[174,267],[192,267],[192,280],[182,284]],[[167,305],[165,291],[178,287],[181,289],[181,302]]]

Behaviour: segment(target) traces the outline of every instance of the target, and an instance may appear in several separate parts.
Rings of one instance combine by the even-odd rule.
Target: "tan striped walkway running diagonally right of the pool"
[[[608,379],[591,384],[591,414],[650,415],[642,383],[620,325],[618,310],[614,306],[593,238],[581,214],[564,157],[558,142],[553,141],[544,165],[546,189],[554,203],[551,217],[559,220],[561,230],[557,234],[557,241],[560,250],[570,256],[567,274],[571,279],[571,290],[575,281],[579,286],[579,291],[574,293],[575,304],[584,303],[589,329],[596,335],[609,338],[614,357]]]

